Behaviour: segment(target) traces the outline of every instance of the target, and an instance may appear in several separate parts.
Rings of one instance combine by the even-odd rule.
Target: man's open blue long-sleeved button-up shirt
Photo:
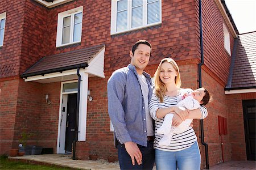
[[[143,72],[148,84],[148,101],[152,96],[150,75]],[[148,109],[148,108],[147,108]],[[144,99],[135,66],[114,71],[108,80],[108,111],[118,142],[133,141],[147,146]]]

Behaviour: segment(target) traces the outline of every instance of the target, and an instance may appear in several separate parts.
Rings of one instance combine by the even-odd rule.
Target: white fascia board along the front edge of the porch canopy
[[[49,78],[55,78],[58,76],[65,76],[65,75],[72,75],[76,74],[76,69],[73,70],[68,70],[68,71],[63,71],[62,73],[49,73],[45,75],[35,75],[35,76],[29,76],[28,78],[24,78],[25,82],[30,82],[30,81],[35,81],[35,80],[42,80],[42,79],[49,79]]]

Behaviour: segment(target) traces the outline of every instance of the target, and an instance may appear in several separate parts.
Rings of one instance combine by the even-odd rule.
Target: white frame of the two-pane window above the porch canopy
[[[73,8],[72,10],[64,11],[64,12],[61,12],[58,14],[56,47],[77,44],[77,43],[81,42],[81,40],[73,41],[73,31],[74,31],[73,26],[74,26],[74,24],[71,24],[71,33],[70,33],[70,37],[69,37],[69,43],[61,44],[62,43],[62,34],[63,34],[63,31],[62,31],[63,19],[67,16],[71,16],[71,23],[73,23],[73,18],[75,16],[75,14],[78,14],[80,12],[82,12],[82,6]],[[82,36],[82,28],[81,28],[81,36]]]

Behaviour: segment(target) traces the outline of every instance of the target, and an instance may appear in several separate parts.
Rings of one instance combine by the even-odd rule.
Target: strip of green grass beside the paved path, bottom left
[[[8,160],[7,156],[0,156],[0,169],[11,170],[11,169],[40,169],[40,170],[60,170],[60,169],[70,169],[70,168],[60,168],[60,167],[53,167],[47,165],[35,165],[35,164],[28,164],[23,162],[14,162]]]

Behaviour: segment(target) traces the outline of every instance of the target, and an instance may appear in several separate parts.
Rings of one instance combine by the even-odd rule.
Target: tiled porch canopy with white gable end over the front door
[[[25,82],[63,82],[77,79],[76,71],[79,67],[89,76],[105,78],[104,52],[105,45],[96,45],[46,56],[27,69],[21,77],[24,78]]]

